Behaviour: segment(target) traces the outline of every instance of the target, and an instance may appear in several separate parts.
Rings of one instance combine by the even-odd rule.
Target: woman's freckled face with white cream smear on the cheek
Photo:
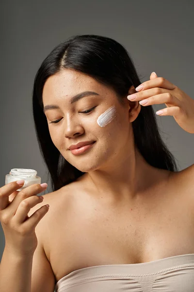
[[[96,94],[71,102],[73,96],[84,91]],[[43,104],[44,108],[58,107],[45,109],[50,137],[63,157],[82,172],[112,167],[121,154],[125,156],[129,151],[132,127],[127,96],[121,105],[112,89],[88,75],[65,69],[46,81]],[[52,123],[56,120],[58,123]],[[79,155],[68,149],[85,141],[95,143]]]

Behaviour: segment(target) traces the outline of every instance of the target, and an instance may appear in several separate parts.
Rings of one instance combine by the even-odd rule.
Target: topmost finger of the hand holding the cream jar
[[[9,196],[11,196],[14,193],[14,195],[12,195],[12,198],[16,197],[16,194],[19,192],[16,190],[19,189],[23,184],[24,183],[18,184],[16,182],[11,182],[3,185],[0,188],[0,211],[5,209],[9,204]]]

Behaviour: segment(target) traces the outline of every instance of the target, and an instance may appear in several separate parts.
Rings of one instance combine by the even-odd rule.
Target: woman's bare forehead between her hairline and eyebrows
[[[43,103],[53,99],[70,98],[82,91],[96,91],[100,95],[106,95],[110,89],[89,75],[65,69],[47,79],[43,88]]]

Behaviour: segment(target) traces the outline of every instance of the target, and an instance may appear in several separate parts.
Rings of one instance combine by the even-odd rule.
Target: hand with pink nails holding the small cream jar
[[[12,182],[0,187],[0,222],[6,250],[26,256],[33,255],[37,247],[35,227],[49,208],[44,205],[28,217],[30,209],[43,201],[35,195],[43,192],[47,184],[44,188],[40,184],[32,184],[17,191],[22,185]],[[9,196],[14,198],[13,201],[9,201]]]

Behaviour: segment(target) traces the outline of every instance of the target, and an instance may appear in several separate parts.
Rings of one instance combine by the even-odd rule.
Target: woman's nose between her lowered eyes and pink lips
[[[77,117],[67,115],[65,122],[65,138],[75,138],[84,133],[84,128]]]

